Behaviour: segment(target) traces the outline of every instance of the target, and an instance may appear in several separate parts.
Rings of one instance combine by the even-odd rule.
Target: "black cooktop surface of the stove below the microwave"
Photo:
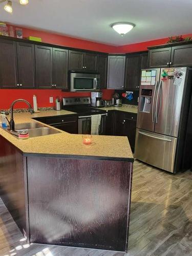
[[[91,106],[65,106],[65,108],[63,108],[64,110],[68,110],[71,112],[75,112],[79,115],[96,115],[96,114],[103,114],[106,113],[105,110],[99,110],[99,109],[95,109],[95,108],[91,108]]]

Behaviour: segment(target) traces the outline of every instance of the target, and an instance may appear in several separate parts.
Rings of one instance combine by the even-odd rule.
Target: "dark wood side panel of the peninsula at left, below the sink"
[[[1,135],[0,196],[20,231],[28,235],[26,158]]]

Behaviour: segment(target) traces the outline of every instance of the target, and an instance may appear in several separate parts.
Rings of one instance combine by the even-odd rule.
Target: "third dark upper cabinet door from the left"
[[[53,87],[53,49],[46,46],[35,46],[36,84],[39,89]]]

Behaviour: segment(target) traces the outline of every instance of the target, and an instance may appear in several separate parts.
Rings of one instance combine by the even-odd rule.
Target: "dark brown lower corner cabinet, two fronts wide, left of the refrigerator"
[[[132,152],[135,150],[137,114],[116,111],[114,135],[127,136]]]

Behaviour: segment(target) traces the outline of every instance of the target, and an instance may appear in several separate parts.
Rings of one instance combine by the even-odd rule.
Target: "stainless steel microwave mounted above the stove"
[[[71,92],[94,92],[100,88],[100,75],[73,73],[70,74]]]

